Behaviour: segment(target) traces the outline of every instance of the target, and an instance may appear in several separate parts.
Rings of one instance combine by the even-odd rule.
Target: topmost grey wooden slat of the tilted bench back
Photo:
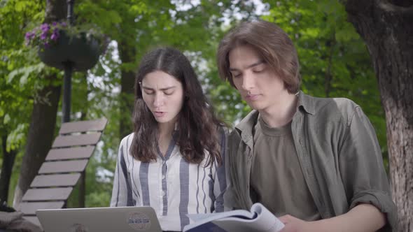
[[[103,131],[106,126],[106,122],[108,122],[108,119],[106,118],[90,121],[65,122],[60,127],[59,134],[85,131]]]

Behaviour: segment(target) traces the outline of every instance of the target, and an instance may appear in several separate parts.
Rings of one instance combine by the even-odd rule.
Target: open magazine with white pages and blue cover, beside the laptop
[[[183,232],[278,232],[284,227],[284,224],[260,203],[253,204],[250,211],[232,210],[188,217],[193,222],[183,227]]]

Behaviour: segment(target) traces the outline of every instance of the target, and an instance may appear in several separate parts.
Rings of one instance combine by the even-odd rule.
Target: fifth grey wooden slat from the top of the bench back
[[[80,178],[80,173],[36,175],[30,187],[66,187],[74,186]]]

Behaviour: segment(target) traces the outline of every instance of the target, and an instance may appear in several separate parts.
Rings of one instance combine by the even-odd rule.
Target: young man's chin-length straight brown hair
[[[225,35],[218,46],[216,60],[223,80],[235,87],[230,72],[229,54],[241,45],[250,45],[281,78],[290,94],[300,89],[301,76],[297,51],[288,34],[272,22],[241,22]]]

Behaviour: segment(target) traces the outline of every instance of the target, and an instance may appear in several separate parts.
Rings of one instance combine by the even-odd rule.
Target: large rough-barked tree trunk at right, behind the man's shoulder
[[[413,231],[413,1],[344,1],[365,40],[386,114],[398,231]]]

